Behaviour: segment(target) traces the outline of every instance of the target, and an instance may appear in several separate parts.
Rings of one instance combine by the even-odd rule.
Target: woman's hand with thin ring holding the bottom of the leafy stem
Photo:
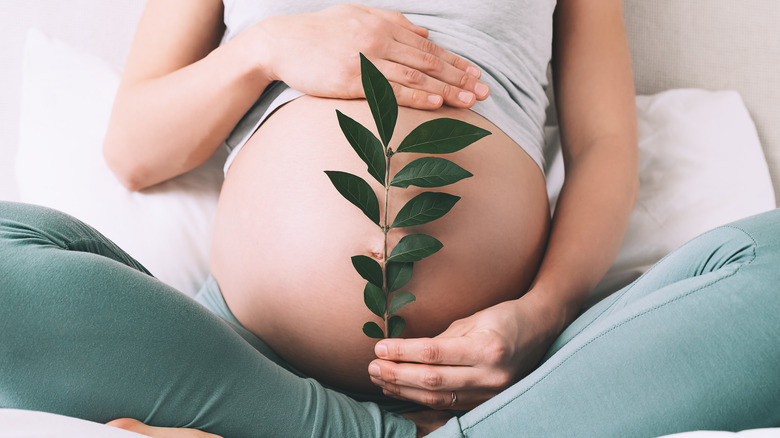
[[[474,408],[530,373],[563,329],[561,312],[526,294],[455,321],[434,338],[384,339],[371,381],[433,409]]]

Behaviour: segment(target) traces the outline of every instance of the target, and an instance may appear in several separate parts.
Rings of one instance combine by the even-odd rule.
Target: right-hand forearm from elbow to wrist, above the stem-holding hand
[[[609,139],[617,146],[620,139]],[[544,261],[527,298],[557,308],[562,330],[614,262],[636,199],[636,157],[594,148],[567,171]]]

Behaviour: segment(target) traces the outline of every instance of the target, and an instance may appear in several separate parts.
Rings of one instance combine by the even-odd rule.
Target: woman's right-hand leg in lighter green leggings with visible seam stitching
[[[694,239],[586,312],[441,436],[658,436],[780,424],[780,212]]]

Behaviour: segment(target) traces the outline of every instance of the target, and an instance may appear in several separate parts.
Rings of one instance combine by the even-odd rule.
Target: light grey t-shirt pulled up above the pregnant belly
[[[224,0],[227,30],[223,42],[264,18],[318,11],[338,3],[341,2]],[[361,3],[402,12],[413,23],[428,29],[433,42],[477,65],[482,70],[481,79],[490,86],[491,95],[477,102],[473,111],[504,131],[543,168],[543,126],[548,104],[545,87],[552,53],[555,0],[497,0],[476,4],[462,0],[368,0]],[[273,96],[269,99],[278,96],[278,93],[268,94]],[[261,106],[263,99],[258,101]]]

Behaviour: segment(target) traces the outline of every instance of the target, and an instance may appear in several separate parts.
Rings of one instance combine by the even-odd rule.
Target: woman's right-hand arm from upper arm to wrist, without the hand
[[[561,309],[562,330],[617,255],[639,188],[639,152],[620,1],[560,0],[555,27],[553,80],[566,179],[529,294]]]

